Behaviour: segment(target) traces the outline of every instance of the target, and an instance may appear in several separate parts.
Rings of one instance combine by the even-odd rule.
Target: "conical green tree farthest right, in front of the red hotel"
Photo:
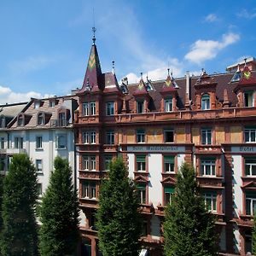
[[[166,256],[216,255],[215,217],[199,193],[194,168],[186,163],[177,174],[175,194],[166,208],[164,237]]]

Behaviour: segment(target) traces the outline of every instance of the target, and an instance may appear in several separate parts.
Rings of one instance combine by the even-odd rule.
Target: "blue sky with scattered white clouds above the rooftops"
[[[102,71],[136,82],[189,70],[224,73],[256,57],[256,2],[189,0],[0,1],[0,103],[63,96],[81,87],[92,9]]]

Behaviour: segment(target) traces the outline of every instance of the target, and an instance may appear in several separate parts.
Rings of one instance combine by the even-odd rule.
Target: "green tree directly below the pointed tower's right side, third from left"
[[[104,256],[138,255],[142,225],[136,187],[122,159],[111,162],[109,169],[96,212],[100,250]]]

